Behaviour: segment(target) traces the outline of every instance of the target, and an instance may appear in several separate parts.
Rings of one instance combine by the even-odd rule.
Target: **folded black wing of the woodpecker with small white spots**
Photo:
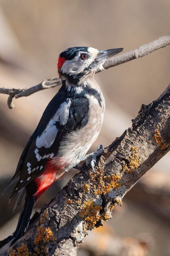
[[[56,98],[58,97],[54,97],[52,101],[49,103],[48,107],[44,111],[43,116],[41,117],[37,129],[31,136],[30,140],[26,145],[26,148],[24,149],[20,157],[20,161],[17,166],[17,171],[13,179],[15,180],[15,178],[18,176],[20,176],[20,178],[11,194],[10,201],[15,197],[17,192],[20,191],[20,189],[22,189],[22,187],[26,186],[28,183],[34,180],[35,177],[37,177],[44,171],[44,167],[46,166],[49,159],[51,159],[54,155],[57,154],[63,136],[76,129],[81,129],[88,122],[89,101],[86,97],[79,97],[71,99],[68,120],[66,124],[60,124],[60,121],[53,120],[54,122],[52,122],[51,126],[49,125],[46,132],[44,132],[44,130],[47,128],[47,124],[54,116],[56,109],[58,110],[61,104],[64,102],[61,102],[61,97],[60,104],[57,104],[58,108],[56,108],[55,106],[55,111],[53,111],[52,115],[49,115],[48,110],[51,109],[51,107],[54,108],[54,101],[56,102]],[[63,100],[66,99],[63,98]],[[44,120],[44,118],[46,120]],[[57,130],[57,134],[56,130],[54,129]],[[51,144],[49,148],[46,148],[45,146],[37,148],[36,140],[38,136],[44,136],[44,138],[48,139],[48,144],[49,140],[51,141],[51,143],[53,141],[54,142]]]

